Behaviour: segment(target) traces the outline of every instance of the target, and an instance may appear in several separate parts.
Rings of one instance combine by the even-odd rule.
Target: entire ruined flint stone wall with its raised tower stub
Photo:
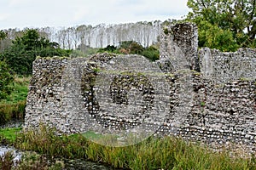
[[[160,60],[95,54],[36,59],[25,127],[61,133],[175,135],[256,150],[256,50],[198,51],[197,28],[163,29]]]

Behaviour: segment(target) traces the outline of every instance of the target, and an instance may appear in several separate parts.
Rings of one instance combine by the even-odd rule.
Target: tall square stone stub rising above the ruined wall
[[[191,23],[166,26],[161,32],[160,42],[160,63],[165,68],[163,70],[200,70],[197,26]]]

